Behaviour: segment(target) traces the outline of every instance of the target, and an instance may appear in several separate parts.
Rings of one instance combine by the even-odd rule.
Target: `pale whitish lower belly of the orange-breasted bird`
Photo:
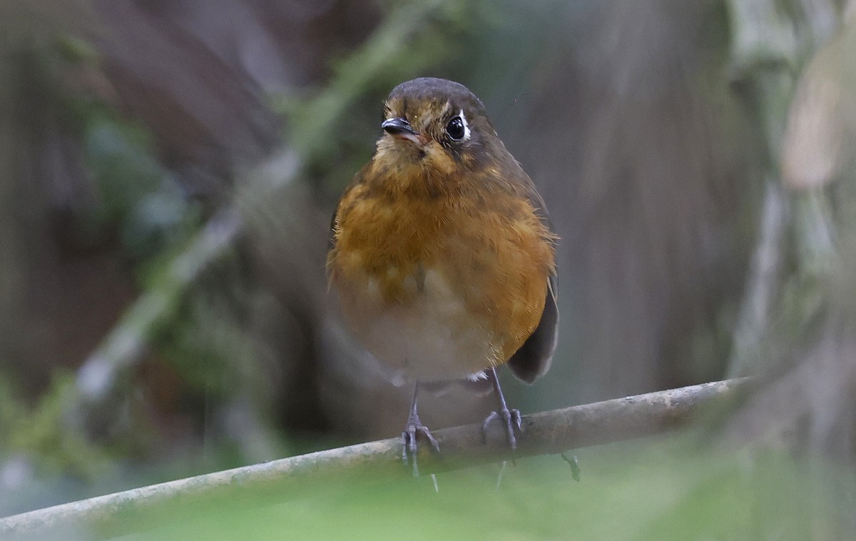
[[[412,282],[413,295],[404,302],[385,302],[374,279],[336,284],[354,335],[393,370],[394,382],[472,378],[502,363],[487,322],[467,309],[439,272],[426,270],[418,292]]]

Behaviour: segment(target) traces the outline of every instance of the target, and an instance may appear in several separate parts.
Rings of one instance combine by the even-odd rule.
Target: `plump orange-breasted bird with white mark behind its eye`
[[[401,459],[416,463],[420,387],[484,384],[512,458],[520,411],[496,368],[532,383],[556,350],[556,244],[544,199],[496,134],[481,100],[452,80],[403,82],[383,104],[369,163],[342,193],[327,274],[344,321],[393,383],[413,383]]]

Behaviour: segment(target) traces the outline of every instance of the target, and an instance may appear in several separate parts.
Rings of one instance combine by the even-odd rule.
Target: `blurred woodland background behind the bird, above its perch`
[[[400,433],[412,389],[324,256],[423,75],[482,98],[562,238],[559,349],[503,374],[515,407],[758,375],[714,441],[852,477],[846,4],[3,0],[0,515]],[[437,428],[493,409],[423,398]]]

